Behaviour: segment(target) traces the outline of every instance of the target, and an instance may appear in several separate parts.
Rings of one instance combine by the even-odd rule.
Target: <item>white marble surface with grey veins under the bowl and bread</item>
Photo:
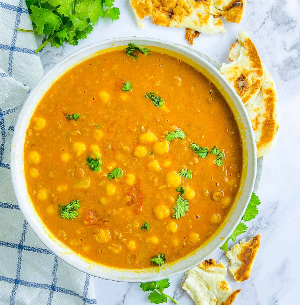
[[[144,28],[136,26],[127,1],[116,0],[121,10],[120,19],[110,23],[100,20],[88,39],[76,47],[64,45],[56,49],[47,46],[41,53],[45,72],[55,63],[78,48],[103,39],[145,36],[160,38],[187,45],[183,29],[157,27],[149,20]],[[219,62],[228,62],[228,49],[241,30],[246,30],[272,74],[280,101],[281,124],[276,148],[265,156],[262,178],[258,189],[261,199],[259,215],[248,223],[248,232],[240,235],[251,237],[261,233],[259,255],[248,281],[234,288],[242,288],[235,304],[295,305],[299,301],[298,264],[299,215],[300,215],[300,1],[299,0],[248,0],[244,20],[240,24],[226,23],[227,33],[204,35],[195,39],[193,48]],[[216,251],[217,260],[222,251]],[[226,261],[222,257],[223,261]],[[170,279],[168,294],[180,304],[193,304],[179,288],[183,274]],[[99,304],[143,305],[150,304],[148,293],[139,284],[118,283],[94,278]]]

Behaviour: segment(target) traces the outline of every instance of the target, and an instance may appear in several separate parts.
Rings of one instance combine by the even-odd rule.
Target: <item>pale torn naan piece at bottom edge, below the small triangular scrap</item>
[[[225,281],[226,267],[213,259],[205,260],[186,275],[182,288],[197,305],[230,305],[241,291],[232,291]]]

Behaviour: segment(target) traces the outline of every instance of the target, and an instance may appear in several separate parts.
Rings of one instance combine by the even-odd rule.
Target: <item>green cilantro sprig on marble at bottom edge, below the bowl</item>
[[[152,291],[148,296],[148,300],[151,303],[154,304],[167,303],[167,298],[169,298],[170,300],[172,300],[172,302],[178,304],[177,301],[174,300],[171,296],[168,296],[167,294],[163,293],[165,288],[168,288],[169,286],[170,283],[168,278],[157,282],[141,283],[140,285],[141,289],[144,292]]]

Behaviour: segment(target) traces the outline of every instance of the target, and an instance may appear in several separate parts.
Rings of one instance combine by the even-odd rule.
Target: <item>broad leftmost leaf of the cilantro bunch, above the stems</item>
[[[40,7],[30,5],[31,15],[30,20],[37,26],[37,33],[46,35],[52,35],[55,31],[58,31],[62,20],[59,16],[55,15],[50,9],[42,9]],[[46,27],[46,32],[44,28]]]

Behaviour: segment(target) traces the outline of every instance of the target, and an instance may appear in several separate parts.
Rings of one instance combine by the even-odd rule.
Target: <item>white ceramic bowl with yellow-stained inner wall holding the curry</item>
[[[150,48],[154,49],[155,47],[167,49],[168,51],[162,51],[168,54],[171,53],[171,55],[176,55],[178,58],[187,61],[189,64],[197,68],[202,74],[204,74],[209,80],[213,81],[216,87],[219,88],[224,98],[227,100],[227,103],[234,114],[240,130],[243,145],[243,170],[241,174],[241,182],[236,199],[230,212],[228,213],[226,220],[223,222],[220,229],[207,242],[205,242],[204,245],[190,255],[177,260],[175,263],[166,263],[160,269],[159,273],[156,272],[156,268],[133,270],[107,267],[89,261],[88,259],[81,257],[69,249],[62,242],[55,239],[54,235],[48,231],[46,226],[37,216],[30,197],[28,196],[24,177],[23,146],[25,135],[30,118],[32,117],[34,110],[44,93],[66,70],[72,68],[74,65],[80,63],[84,59],[91,57],[95,52],[108,48],[126,46],[128,42],[134,42],[137,45],[148,45]],[[216,69],[212,60],[210,60],[208,57],[202,56],[201,53],[198,53],[190,48],[175,45],[170,42],[150,38],[128,37],[106,40],[94,43],[85,48],[81,48],[77,52],[63,59],[60,63],[56,64],[54,68],[48,71],[48,73],[41,78],[36,87],[30,92],[30,95],[28,96],[28,99],[24,103],[20,112],[12,140],[10,164],[12,183],[19,207],[30,227],[34,230],[45,246],[47,246],[53,253],[77,269],[97,277],[124,282],[148,282],[169,278],[175,274],[184,272],[194,267],[206,258],[209,258],[210,255],[224,243],[224,241],[230,236],[234,228],[240,222],[241,217],[245,212],[247,203],[249,202],[256,176],[256,162],[257,159],[254,134],[245,107],[234,89]]]

